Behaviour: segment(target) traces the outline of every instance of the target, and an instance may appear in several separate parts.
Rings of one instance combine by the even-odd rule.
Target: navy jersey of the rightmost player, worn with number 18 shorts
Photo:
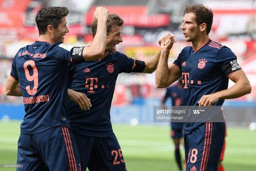
[[[203,95],[227,89],[228,75],[241,69],[232,51],[209,40],[198,51],[183,48],[176,61],[182,72],[182,106],[198,106]],[[219,100],[212,106],[221,106]],[[202,123],[185,123],[184,132],[189,133]]]

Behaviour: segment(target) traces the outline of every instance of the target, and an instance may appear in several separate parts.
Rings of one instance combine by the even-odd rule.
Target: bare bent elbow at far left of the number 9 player
[[[5,83],[5,94],[13,96],[22,96],[22,89],[19,82],[9,76]]]

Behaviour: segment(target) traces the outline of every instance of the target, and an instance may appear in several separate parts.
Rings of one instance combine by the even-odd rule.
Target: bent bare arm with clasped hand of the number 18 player
[[[174,42],[175,39],[172,35],[164,37],[159,41],[161,54],[156,71],[156,86],[158,88],[168,87],[181,77],[181,70],[178,66],[172,64],[168,67],[168,56]]]

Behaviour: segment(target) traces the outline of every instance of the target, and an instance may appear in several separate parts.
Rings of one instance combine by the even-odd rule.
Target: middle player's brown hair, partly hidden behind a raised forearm
[[[93,37],[96,35],[97,32],[97,24],[98,20],[94,18],[92,23],[92,32]],[[108,19],[106,20],[106,35],[109,35],[111,32],[112,26],[122,26],[123,25],[123,19],[119,17],[117,14],[109,14]]]

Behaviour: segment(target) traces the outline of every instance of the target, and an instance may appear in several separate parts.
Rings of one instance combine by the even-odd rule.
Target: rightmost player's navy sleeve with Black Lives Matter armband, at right
[[[226,46],[221,48],[217,53],[216,62],[226,76],[241,69],[237,62],[237,56]]]

